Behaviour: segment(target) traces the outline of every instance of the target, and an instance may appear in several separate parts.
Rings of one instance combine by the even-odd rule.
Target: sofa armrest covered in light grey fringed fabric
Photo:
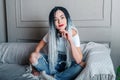
[[[76,80],[115,80],[110,48],[91,43],[85,54],[86,66]]]

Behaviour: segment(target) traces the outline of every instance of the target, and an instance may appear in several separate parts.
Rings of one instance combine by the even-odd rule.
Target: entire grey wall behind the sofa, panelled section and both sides
[[[65,2],[67,6],[61,2],[56,4],[56,0],[54,3],[48,2],[49,4],[46,4],[43,0],[31,1],[6,0],[9,42],[37,41],[41,39],[48,30],[47,17],[49,10],[53,7],[50,4],[61,4],[69,9],[75,25],[78,26],[81,41],[110,42],[111,57],[115,70],[120,65],[120,0],[93,0],[90,2],[88,0],[88,2],[76,0],[76,3],[80,4],[76,4],[75,8],[69,5],[73,3],[72,1],[69,4]],[[0,0],[1,42],[5,41],[4,8],[1,7],[3,6],[2,3],[3,0]],[[43,9],[42,6],[47,6],[47,8],[44,7]]]

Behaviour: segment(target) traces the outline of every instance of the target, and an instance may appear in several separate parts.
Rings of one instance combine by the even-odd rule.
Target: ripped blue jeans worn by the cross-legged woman
[[[50,74],[48,57],[45,54],[38,59],[38,64],[34,65],[38,71],[46,71],[47,74]],[[58,64],[55,67],[56,72],[54,73],[54,78],[56,80],[74,80],[78,74],[82,71],[83,67],[79,64],[76,64],[75,61],[72,61],[72,64],[69,68],[66,68],[66,56],[58,55]]]

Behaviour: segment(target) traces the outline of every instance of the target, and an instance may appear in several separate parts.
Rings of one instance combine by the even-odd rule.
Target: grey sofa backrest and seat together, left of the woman
[[[0,44],[0,80],[32,80],[22,77],[26,73],[28,57],[36,43]]]

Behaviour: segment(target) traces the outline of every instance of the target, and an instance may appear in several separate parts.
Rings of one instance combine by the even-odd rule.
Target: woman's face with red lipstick
[[[67,26],[67,19],[61,10],[57,10],[54,15],[55,27],[57,30],[63,30]]]

